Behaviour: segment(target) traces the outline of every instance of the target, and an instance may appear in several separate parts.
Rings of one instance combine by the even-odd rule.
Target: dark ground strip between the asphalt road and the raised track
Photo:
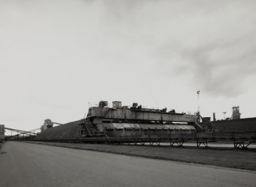
[[[256,170],[256,151],[249,150],[112,144],[72,144],[42,141],[26,142],[90,151],[101,151],[113,154],[125,154],[135,157],[173,160],[186,163],[200,163],[212,166],[232,167],[243,170]]]

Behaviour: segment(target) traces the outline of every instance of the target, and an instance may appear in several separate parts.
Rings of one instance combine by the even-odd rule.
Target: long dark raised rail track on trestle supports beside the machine
[[[170,143],[170,146],[183,146],[185,142],[195,143],[196,147],[208,147],[209,142],[232,141],[235,148],[245,149],[256,143],[256,133],[193,133],[170,135],[118,136],[118,137],[81,137],[57,139],[29,139],[25,141],[51,141],[66,143],[91,144],[150,144],[159,145],[160,142]]]

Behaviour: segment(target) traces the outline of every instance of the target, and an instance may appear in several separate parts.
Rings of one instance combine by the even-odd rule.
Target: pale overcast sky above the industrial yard
[[[121,100],[255,117],[256,1],[0,0],[0,124]]]

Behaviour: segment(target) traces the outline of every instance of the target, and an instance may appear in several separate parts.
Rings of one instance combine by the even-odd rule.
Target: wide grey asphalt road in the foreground
[[[256,186],[256,173],[216,166],[7,142],[0,186]]]

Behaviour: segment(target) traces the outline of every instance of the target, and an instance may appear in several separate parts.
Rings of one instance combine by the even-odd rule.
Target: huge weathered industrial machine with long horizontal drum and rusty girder
[[[190,134],[201,128],[196,115],[167,112],[167,108],[147,109],[138,103],[122,106],[120,101],[112,102],[112,107],[108,107],[107,101],[100,101],[99,106],[89,108],[86,119],[79,125],[83,137]]]

